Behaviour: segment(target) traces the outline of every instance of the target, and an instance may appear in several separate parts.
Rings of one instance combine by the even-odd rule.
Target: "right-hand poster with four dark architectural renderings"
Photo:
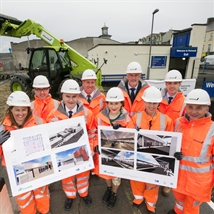
[[[100,173],[176,187],[181,133],[98,127]]]

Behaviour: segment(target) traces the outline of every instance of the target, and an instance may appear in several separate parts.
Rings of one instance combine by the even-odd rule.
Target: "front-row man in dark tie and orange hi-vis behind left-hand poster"
[[[66,80],[61,88],[62,101],[57,110],[52,110],[48,115],[47,122],[54,122],[58,120],[65,120],[68,118],[84,116],[86,121],[86,129],[88,131],[88,137],[90,142],[90,148],[92,155],[94,154],[94,148],[97,145],[96,139],[96,125],[94,121],[93,113],[83,103],[78,100],[80,94],[80,88],[75,80]],[[76,176],[70,176],[62,180],[62,188],[66,194],[66,200],[64,208],[66,211],[71,209],[73,200],[76,198],[76,189],[81,198],[87,205],[92,203],[91,197],[88,194],[89,188],[89,175],[90,171],[85,171],[77,174]],[[76,181],[75,181],[76,177]]]

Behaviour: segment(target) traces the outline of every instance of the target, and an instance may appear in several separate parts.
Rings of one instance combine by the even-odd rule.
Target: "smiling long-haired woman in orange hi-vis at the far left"
[[[30,99],[22,91],[10,94],[7,105],[9,107],[1,124],[1,128],[6,131],[10,132],[45,123],[41,118],[32,115]],[[2,158],[2,165],[5,166],[2,146],[0,146],[0,157]],[[17,195],[15,198],[22,214],[36,214],[37,210],[43,214],[49,213],[50,195],[48,186]]]

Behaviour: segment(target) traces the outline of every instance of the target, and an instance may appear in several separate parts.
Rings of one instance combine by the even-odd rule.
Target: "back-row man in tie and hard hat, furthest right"
[[[163,99],[159,105],[159,111],[168,115],[174,125],[176,119],[184,115],[185,110],[185,97],[180,90],[181,82],[181,73],[178,70],[170,70],[165,76],[166,88],[161,91]],[[164,196],[168,196],[170,192],[171,188],[162,188]]]

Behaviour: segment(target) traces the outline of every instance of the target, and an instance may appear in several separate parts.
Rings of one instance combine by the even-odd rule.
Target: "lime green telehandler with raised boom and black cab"
[[[48,32],[43,26],[28,19],[19,21],[16,18],[0,14],[0,36],[21,38],[36,35],[49,46],[27,48],[30,55],[27,74],[14,73],[11,75],[11,91],[22,90],[31,95],[32,82],[37,75],[48,78],[51,94],[59,92],[62,82],[72,78],[81,83],[84,70],[92,69],[98,74],[97,86],[101,88],[100,71],[95,64],[80,55],[70,46]]]

